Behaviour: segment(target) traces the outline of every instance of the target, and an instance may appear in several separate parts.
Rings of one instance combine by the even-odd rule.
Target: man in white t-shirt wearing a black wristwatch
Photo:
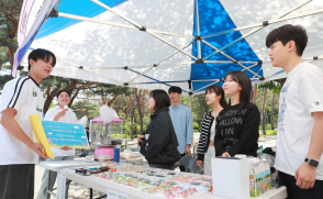
[[[300,25],[271,31],[266,45],[274,67],[287,73],[279,99],[275,167],[288,198],[323,198],[323,71],[303,63],[308,43]]]

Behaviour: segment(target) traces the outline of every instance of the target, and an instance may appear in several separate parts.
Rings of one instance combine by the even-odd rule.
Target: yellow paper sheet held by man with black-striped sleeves
[[[42,121],[40,119],[40,115],[36,114],[31,114],[30,115],[32,129],[34,131],[35,137],[37,143],[42,144],[45,148],[45,154],[51,157],[52,159],[55,159],[53,152],[51,150],[49,143],[47,141],[46,134],[44,132]]]

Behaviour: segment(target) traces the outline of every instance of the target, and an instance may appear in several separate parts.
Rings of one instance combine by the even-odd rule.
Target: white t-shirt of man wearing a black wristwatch
[[[301,63],[287,75],[280,91],[275,163],[278,170],[294,176],[304,163],[315,122],[312,112],[323,112],[323,71]],[[323,180],[323,156],[316,179]]]

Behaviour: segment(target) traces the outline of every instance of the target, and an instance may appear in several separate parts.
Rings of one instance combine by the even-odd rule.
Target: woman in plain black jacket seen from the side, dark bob
[[[153,90],[148,99],[148,109],[154,110],[145,135],[137,137],[141,154],[149,167],[175,169],[180,154],[178,141],[169,115],[170,99],[165,90]]]

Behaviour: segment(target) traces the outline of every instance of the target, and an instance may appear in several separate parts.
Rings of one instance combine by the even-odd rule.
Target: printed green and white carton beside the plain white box
[[[269,161],[260,161],[249,166],[249,190],[252,197],[259,197],[271,189],[271,174]]]

